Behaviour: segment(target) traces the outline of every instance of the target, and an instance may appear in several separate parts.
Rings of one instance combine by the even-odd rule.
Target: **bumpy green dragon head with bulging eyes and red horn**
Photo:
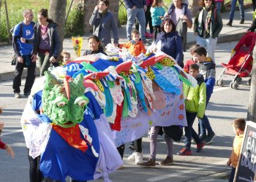
[[[73,127],[83,121],[83,111],[89,99],[83,94],[83,75],[78,75],[72,82],[56,79],[50,72],[45,72],[45,87],[42,92],[42,110],[53,124],[61,127]]]

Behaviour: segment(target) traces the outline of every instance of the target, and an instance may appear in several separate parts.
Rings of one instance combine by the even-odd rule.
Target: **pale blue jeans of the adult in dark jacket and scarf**
[[[211,37],[209,37],[208,39],[204,39],[200,36],[197,36],[197,44],[199,44],[202,47],[206,47],[206,50],[208,52],[208,57],[210,57],[214,62],[215,62],[214,52],[216,49],[217,40],[218,40],[217,37],[215,37],[214,39]]]

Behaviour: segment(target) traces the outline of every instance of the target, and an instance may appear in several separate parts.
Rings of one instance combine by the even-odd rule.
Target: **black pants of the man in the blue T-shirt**
[[[29,93],[31,91],[31,88],[34,84],[35,76],[35,70],[36,70],[36,62],[30,63],[29,66],[27,66],[27,63],[30,61],[31,55],[23,55],[23,63],[16,63],[15,66],[15,74],[12,84],[13,92],[20,92],[20,85],[21,85],[21,75],[23,73],[24,68],[28,68],[27,75],[26,75],[26,82],[24,87],[24,93]]]

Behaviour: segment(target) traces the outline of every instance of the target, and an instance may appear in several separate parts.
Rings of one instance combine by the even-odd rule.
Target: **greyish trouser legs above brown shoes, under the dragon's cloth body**
[[[157,138],[158,132],[161,127],[151,127],[150,129],[150,159],[156,159],[157,154]],[[165,142],[167,144],[168,154],[167,156],[173,157],[173,139],[165,135]]]

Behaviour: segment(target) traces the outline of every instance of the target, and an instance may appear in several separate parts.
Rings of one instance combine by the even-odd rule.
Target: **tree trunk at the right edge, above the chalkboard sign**
[[[247,120],[256,122],[256,44],[253,49],[253,63],[252,63],[252,80],[251,90],[249,94],[249,106],[247,111]]]

